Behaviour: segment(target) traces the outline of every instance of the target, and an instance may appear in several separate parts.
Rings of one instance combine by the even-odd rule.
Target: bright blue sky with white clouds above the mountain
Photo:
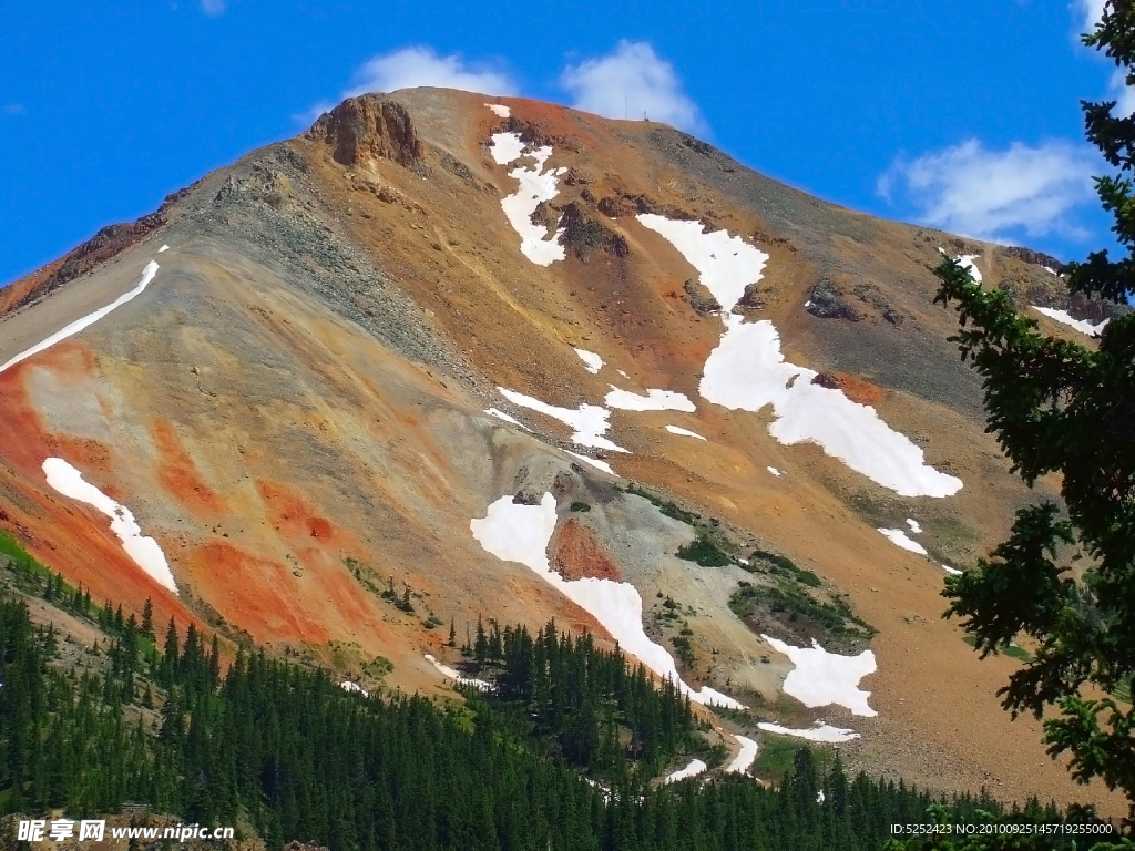
[[[847,207],[1062,259],[1111,245],[1078,43],[1102,0],[0,5],[0,285],[347,93],[449,84],[669,120]]]

